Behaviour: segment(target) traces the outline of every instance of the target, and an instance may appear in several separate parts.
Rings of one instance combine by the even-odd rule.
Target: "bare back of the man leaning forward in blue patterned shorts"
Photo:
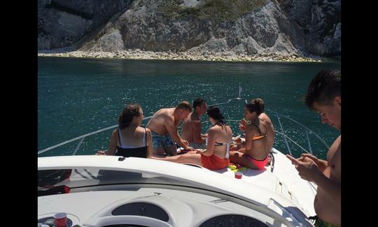
[[[150,121],[146,124],[146,128],[157,133],[158,135],[167,135],[167,125],[175,124],[174,122],[174,108],[163,108],[155,112]],[[179,124],[179,122],[177,123]]]

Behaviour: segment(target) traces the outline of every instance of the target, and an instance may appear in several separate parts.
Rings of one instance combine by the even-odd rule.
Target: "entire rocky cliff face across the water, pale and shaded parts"
[[[340,0],[38,0],[38,50],[339,56]]]

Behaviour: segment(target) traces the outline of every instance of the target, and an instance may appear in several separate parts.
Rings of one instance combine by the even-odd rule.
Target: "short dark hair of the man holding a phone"
[[[312,109],[314,102],[328,104],[335,96],[341,96],[341,71],[322,70],[312,78],[304,102]]]

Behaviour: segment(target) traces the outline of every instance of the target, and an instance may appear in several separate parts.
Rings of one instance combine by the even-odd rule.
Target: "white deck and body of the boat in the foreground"
[[[153,159],[120,161],[118,156],[38,158],[38,170],[74,170],[69,182],[61,183],[71,187],[70,193],[38,197],[38,220],[66,212],[72,225],[80,226],[185,227],[207,226],[211,221],[236,221],[258,226],[312,226],[307,217],[314,215],[314,189],[297,176],[295,168],[283,154],[278,152],[274,157],[273,173],[270,167],[265,171],[247,169],[243,170],[241,180],[234,177],[230,168],[215,172]],[[102,184],[97,177],[99,169],[138,173],[143,179],[157,175],[151,179],[163,181]],[[80,185],[83,180],[87,184],[90,182],[90,186]],[[121,212],[124,215],[113,215],[120,207],[132,205],[139,208],[128,207]],[[142,209],[140,206],[144,205],[146,207]],[[163,210],[161,215],[159,209]]]

